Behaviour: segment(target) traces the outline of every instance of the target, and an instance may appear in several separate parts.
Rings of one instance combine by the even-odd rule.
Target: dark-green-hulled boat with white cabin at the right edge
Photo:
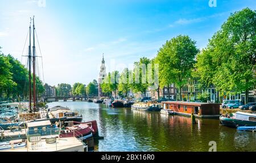
[[[256,126],[256,114],[238,111],[230,115],[221,115],[220,122],[224,126],[233,128],[240,126]]]

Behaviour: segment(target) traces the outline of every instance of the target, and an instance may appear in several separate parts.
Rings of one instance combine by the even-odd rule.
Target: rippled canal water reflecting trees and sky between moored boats
[[[83,121],[97,120],[100,136],[94,151],[209,151],[215,141],[217,151],[256,151],[256,133],[220,126],[218,119],[196,119],[131,108],[109,108],[88,102],[52,102],[53,106],[79,111]]]

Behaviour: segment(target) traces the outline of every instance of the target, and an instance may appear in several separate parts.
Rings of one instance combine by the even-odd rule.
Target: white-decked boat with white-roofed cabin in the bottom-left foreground
[[[86,145],[73,137],[59,137],[49,120],[27,123],[27,139],[0,144],[1,152],[84,152]]]

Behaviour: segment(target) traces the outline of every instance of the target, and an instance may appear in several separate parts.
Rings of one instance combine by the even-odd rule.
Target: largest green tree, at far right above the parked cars
[[[248,8],[234,12],[197,56],[196,76],[222,93],[255,89],[256,12]]]

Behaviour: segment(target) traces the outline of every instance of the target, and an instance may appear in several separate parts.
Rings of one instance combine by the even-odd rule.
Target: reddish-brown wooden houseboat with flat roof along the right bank
[[[177,115],[191,116],[192,112],[197,118],[220,117],[219,103],[164,101],[163,109],[173,110]]]

